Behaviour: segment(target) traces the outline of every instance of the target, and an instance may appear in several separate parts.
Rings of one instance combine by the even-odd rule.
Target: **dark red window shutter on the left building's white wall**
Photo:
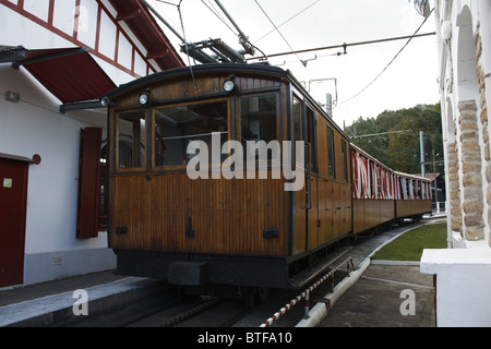
[[[76,215],[77,239],[91,239],[98,236],[101,136],[103,129],[99,128],[81,130]]]

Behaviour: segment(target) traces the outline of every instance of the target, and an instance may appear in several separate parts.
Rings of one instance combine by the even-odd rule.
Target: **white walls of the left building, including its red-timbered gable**
[[[47,23],[49,0],[24,0],[24,10],[33,19],[0,4],[0,33],[3,33],[0,45],[21,45],[27,49],[88,46],[98,49],[93,58],[116,85],[134,80],[134,74],[145,75],[147,63],[137,52],[132,62],[133,46],[142,55],[147,50],[123,22],[119,25],[129,38],[120,32],[116,57],[117,24],[110,19],[116,11],[109,1],[101,3],[109,15],[101,11],[99,43],[96,43],[99,7],[96,0],[81,0],[76,28],[76,1],[55,1],[53,32]],[[7,101],[7,91],[19,93],[21,101]],[[24,68],[14,70],[10,64],[0,64],[0,153],[41,156],[40,165],[31,165],[28,173],[24,284],[107,269],[116,262],[107,248],[106,232],[88,240],[75,238],[80,130],[96,125],[104,128],[106,134],[106,110],[62,115],[59,105]]]

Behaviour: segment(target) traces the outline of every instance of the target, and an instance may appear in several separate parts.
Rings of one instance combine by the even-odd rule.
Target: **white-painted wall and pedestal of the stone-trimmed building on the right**
[[[481,96],[477,75],[475,37],[480,24],[479,33],[482,39],[482,57],[480,63],[484,74],[489,73],[491,55],[491,2],[480,0],[440,1],[440,19],[452,23],[452,37],[448,43],[440,41],[441,55],[441,93],[442,112],[448,143],[454,141],[454,130],[457,132],[455,141],[459,144],[458,103],[475,100],[477,105],[477,133],[481,148],[481,177],[482,177],[482,214],[486,225],[483,239],[477,241],[466,240],[459,234],[450,234],[453,239],[453,249],[424,250],[421,257],[421,273],[436,275],[436,323],[441,327],[457,326],[491,326],[491,249],[490,225],[487,196],[490,193],[487,177],[487,160],[484,158],[484,132],[480,122]],[[451,8],[448,8],[451,7]],[[470,13],[468,12],[468,10]],[[439,19],[439,20],[440,20]],[[441,28],[438,22],[436,27]],[[441,33],[439,37],[442,38]],[[444,64],[444,65],[443,65]],[[490,101],[491,82],[486,79],[486,100]],[[482,87],[482,86],[481,86]],[[488,111],[489,117],[489,111]],[[452,121],[454,124],[452,124]],[[455,129],[454,129],[455,127]],[[452,145],[453,146],[453,145]],[[463,171],[459,164],[459,190],[463,192]],[[446,168],[454,166],[447,164]],[[447,177],[448,180],[448,177]],[[455,183],[454,183],[455,184]],[[452,185],[447,183],[450,190]],[[452,186],[455,190],[455,185]],[[447,195],[450,200],[451,195]],[[463,197],[463,196],[460,196]],[[448,220],[450,224],[450,220]],[[464,221],[465,224],[465,221]]]

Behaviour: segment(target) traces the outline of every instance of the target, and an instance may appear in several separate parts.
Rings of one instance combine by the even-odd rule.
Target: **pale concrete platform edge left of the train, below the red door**
[[[97,314],[153,294],[161,287],[161,282],[156,280],[117,276],[108,270],[44,284],[1,288],[0,327],[67,324],[81,315],[84,302],[91,314]]]

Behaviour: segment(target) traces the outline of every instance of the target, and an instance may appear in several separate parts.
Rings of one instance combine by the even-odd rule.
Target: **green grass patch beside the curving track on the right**
[[[412,229],[380,249],[372,260],[419,262],[424,249],[446,249],[446,222]]]

